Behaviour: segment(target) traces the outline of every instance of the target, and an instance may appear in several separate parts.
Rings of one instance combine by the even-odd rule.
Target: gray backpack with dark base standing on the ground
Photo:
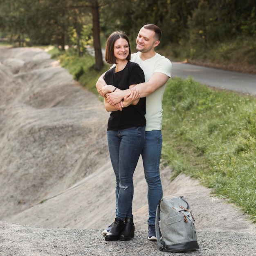
[[[159,234],[159,213],[162,240]],[[195,231],[195,220],[191,208],[183,196],[171,200],[159,200],[156,211],[155,230],[159,250],[185,252],[199,248]]]

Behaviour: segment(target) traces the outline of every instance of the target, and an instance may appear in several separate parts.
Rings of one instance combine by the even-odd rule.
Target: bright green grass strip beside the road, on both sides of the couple
[[[97,94],[95,83],[107,65],[97,72],[92,56],[56,57]],[[163,109],[162,164],[171,166],[171,180],[180,173],[197,178],[256,223],[256,99],[175,78],[168,81]]]

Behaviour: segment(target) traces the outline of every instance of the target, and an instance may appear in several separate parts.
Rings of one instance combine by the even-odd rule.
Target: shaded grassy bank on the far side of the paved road
[[[256,74],[255,38],[237,38],[202,47],[168,45],[159,53],[173,61]]]

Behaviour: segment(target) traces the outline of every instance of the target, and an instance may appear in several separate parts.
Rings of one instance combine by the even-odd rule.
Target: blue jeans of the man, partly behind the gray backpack
[[[161,130],[145,132],[145,144],[141,156],[143,160],[145,179],[148,183],[148,225],[155,225],[157,204],[163,197],[159,170],[162,141]]]

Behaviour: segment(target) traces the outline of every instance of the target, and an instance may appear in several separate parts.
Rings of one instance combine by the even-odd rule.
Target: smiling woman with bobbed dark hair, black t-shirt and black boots
[[[128,37],[121,31],[112,33],[106,43],[106,62],[115,64],[108,70],[100,94],[132,88],[144,82],[144,72],[138,64],[130,62],[131,52]],[[139,99],[136,90],[124,98],[123,110],[110,105],[105,97],[105,108],[111,111],[108,119],[108,149],[116,176],[116,216],[106,241],[130,240],[134,237],[132,216],[132,176],[144,146],[146,98]]]

